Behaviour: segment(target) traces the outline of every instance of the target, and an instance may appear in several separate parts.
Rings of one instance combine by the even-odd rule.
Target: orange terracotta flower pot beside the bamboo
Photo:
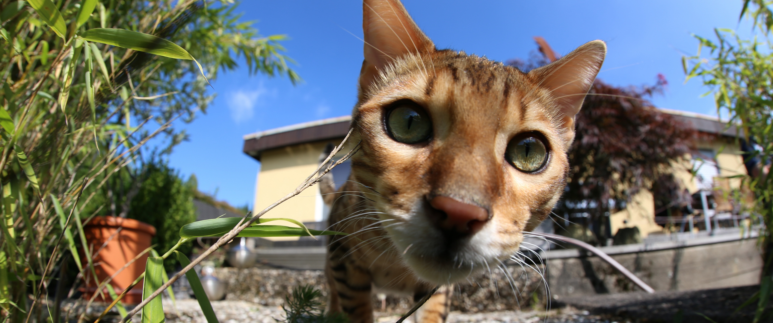
[[[121,230],[118,230],[119,228]],[[101,264],[97,264],[94,270],[97,272],[99,281],[104,281],[150,247],[150,240],[155,235],[155,227],[138,220],[121,217],[94,217],[83,226],[83,233],[86,235],[91,252],[99,251],[94,256],[94,264]],[[106,241],[107,245],[100,250]],[[121,294],[145,271],[147,260],[148,253],[145,253],[113,278],[110,284],[113,285],[116,294]],[[84,260],[83,265],[86,264],[87,261]],[[97,291],[98,284],[90,271],[84,273],[84,279],[86,287],[82,289],[83,298],[90,299]],[[113,301],[107,288],[104,288],[103,294],[104,298],[97,296],[95,301]],[[121,301],[124,304],[139,304],[142,301],[142,283],[132,288]]]

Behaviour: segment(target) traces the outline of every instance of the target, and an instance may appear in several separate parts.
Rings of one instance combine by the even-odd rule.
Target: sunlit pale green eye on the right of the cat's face
[[[516,136],[507,144],[505,158],[512,167],[533,173],[547,162],[547,146],[537,136]]]

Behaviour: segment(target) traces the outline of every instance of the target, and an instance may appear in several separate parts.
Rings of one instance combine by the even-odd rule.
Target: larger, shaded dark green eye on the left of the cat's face
[[[386,131],[400,143],[421,143],[432,134],[432,121],[415,103],[398,103],[386,115]]]

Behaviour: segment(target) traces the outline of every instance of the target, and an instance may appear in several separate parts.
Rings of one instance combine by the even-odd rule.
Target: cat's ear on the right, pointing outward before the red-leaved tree
[[[547,66],[529,72],[529,76],[540,86],[553,92],[564,114],[565,126],[571,130],[574,130],[574,115],[580,112],[606,54],[607,45],[601,40],[594,40]]]

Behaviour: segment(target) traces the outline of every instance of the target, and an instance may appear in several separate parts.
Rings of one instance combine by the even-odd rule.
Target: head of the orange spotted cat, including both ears
[[[363,2],[363,29],[354,180],[420,278],[496,266],[564,191],[574,115],[606,45],[524,73],[435,49],[397,0]]]

